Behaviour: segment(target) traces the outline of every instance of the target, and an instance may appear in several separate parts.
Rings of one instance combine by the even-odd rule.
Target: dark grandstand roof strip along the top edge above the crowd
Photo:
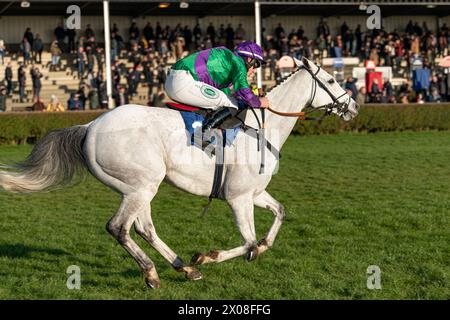
[[[22,8],[20,0],[0,0],[0,16],[4,15],[65,15],[67,1],[63,0],[28,0],[29,8]],[[175,0],[110,0],[110,14],[129,16],[157,15],[253,15],[253,0],[185,0],[189,8],[181,9],[180,1]],[[167,8],[159,8],[160,2],[170,3]],[[270,15],[361,15],[361,2],[378,4],[382,7],[383,16],[391,15],[450,15],[448,0],[262,0],[260,1],[263,17]],[[79,5],[84,15],[103,15],[102,1],[70,1]],[[205,7],[207,5],[207,8]],[[407,5],[407,7],[405,7]]]

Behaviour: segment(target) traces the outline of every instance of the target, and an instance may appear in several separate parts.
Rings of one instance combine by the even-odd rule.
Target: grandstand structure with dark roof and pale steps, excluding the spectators
[[[188,26],[191,30],[195,25],[206,33],[208,26],[212,25],[216,31],[221,25],[231,25],[234,29],[238,25],[245,31],[242,39],[253,40],[255,34],[254,24],[254,1],[251,0],[231,0],[223,1],[186,1],[188,8],[180,8],[179,1],[166,1],[169,5],[162,7],[159,1],[110,1],[110,22],[116,24],[120,30],[125,43],[129,42],[128,29],[134,22],[136,27],[142,32],[148,22],[153,27],[159,22],[164,28],[176,29]],[[261,1],[261,16],[263,26],[263,37],[274,35],[279,23],[286,33],[297,30],[301,26],[304,36],[307,39],[317,38],[317,27],[319,21],[325,19],[330,33],[335,36],[340,32],[342,24],[345,22],[348,27],[354,30],[361,25],[365,32],[365,22],[368,14],[361,10],[364,4],[366,7],[372,3],[379,4],[382,12],[383,30],[391,32],[393,30],[404,31],[410,20],[421,25],[425,23],[433,34],[437,34],[443,25],[450,26],[450,5],[448,1]],[[78,5],[81,9],[81,30],[78,35],[84,33],[87,25],[90,25],[95,33],[95,40],[98,46],[103,46],[103,11],[101,1],[74,1],[71,4]],[[208,6],[208,14],[205,15],[205,5]],[[56,95],[64,105],[71,93],[79,89],[80,79],[77,77],[77,56],[76,54],[64,53],[59,63],[59,71],[50,71],[51,55],[48,52],[50,43],[55,39],[54,29],[58,23],[63,23],[67,17],[67,3],[64,1],[31,1],[27,8],[21,6],[21,1],[0,0],[0,39],[4,40],[8,54],[5,57],[5,64],[0,64],[0,79],[4,76],[5,65],[11,62],[13,69],[14,93],[8,99],[8,110],[21,111],[29,110],[32,104],[32,84],[30,77],[30,66],[26,67],[26,102],[19,102],[17,69],[18,62],[23,61],[20,54],[20,42],[27,27],[36,34],[39,33],[44,43],[42,64],[39,67],[42,78],[41,97],[47,103],[52,94]],[[78,37],[77,35],[77,37]],[[450,41],[449,41],[450,42]],[[65,38],[67,45],[67,38]],[[184,48],[183,55],[197,48]],[[361,49],[361,48],[359,48]],[[290,54],[291,52],[288,52]],[[278,55],[278,58],[281,54]],[[343,57],[344,67],[337,71],[335,59],[332,57],[319,57],[319,62],[330,72],[340,72],[343,79],[355,74],[355,67],[363,68],[364,60],[360,57]],[[433,66],[436,65],[442,55],[434,58]],[[168,46],[167,59],[164,67],[167,69],[176,60],[173,47]],[[317,59],[316,59],[317,60]],[[127,52],[122,52],[118,64],[125,69],[132,68],[135,64],[129,61]],[[161,62],[162,63],[162,62]],[[105,67],[103,67],[105,68]],[[93,67],[97,73],[97,63]],[[104,69],[103,69],[104,71]],[[265,70],[265,79],[270,74],[269,68]],[[361,79],[360,79],[361,80]],[[393,75],[391,82],[394,86],[399,86],[408,79],[404,76]],[[143,81],[143,84],[145,81]],[[272,86],[274,79],[266,80],[266,86]],[[121,84],[126,86],[127,80],[124,74],[121,77]],[[362,84],[359,83],[358,87]],[[154,90],[156,92],[156,88]],[[142,85],[137,88],[137,94],[133,97],[133,102],[147,104],[150,99],[148,90]]]

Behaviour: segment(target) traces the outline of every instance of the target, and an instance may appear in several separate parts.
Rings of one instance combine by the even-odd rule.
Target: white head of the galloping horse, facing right
[[[295,59],[295,62],[298,67],[304,68],[311,75],[313,81],[308,107],[325,109],[345,121],[358,115],[359,105],[328,72],[306,58],[302,58],[301,61]]]

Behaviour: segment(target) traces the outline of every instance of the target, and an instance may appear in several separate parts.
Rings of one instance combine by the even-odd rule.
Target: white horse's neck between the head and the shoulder
[[[311,85],[308,74],[302,70],[297,71],[268,93],[271,108],[281,112],[301,111],[310,99]],[[279,142],[274,143],[278,144],[280,149],[294,129],[296,121],[296,117],[282,117],[270,111],[266,112],[266,128],[272,132],[271,135],[278,135],[276,140]]]

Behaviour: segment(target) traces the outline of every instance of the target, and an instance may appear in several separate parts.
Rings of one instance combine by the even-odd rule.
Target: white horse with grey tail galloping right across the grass
[[[326,106],[328,112],[346,121],[357,115],[358,105],[332,76],[307,59],[296,60],[296,63],[299,70],[267,95],[274,109],[293,113],[306,105],[316,109]],[[280,150],[296,120],[267,112],[267,140]],[[242,131],[233,144],[225,148],[228,160],[223,169],[220,198],[230,205],[243,244],[230,250],[196,254],[191,264],[185,264],[157,235],[150,202],[162,181],[199,196],[208,196],[213,185],[215,157],[188,144],[184,128],[177,111],[124,105],[89,124],[48,133],[23,163],[2,167],[0,188],[10,192],[41,191],[68,183],[79,169],[87,167],[97,179],[122,194],[120,208],[106,228],[136,260],[152,288],[159,287],[160,280],[152,260],[130,237],[133,224],[137,234],[177,271],[185,272],[188,279],[202,278],[195,264],[222,262],[245,254],[253,260],[273,245],[285,212],[265,191],[272,175],[259,174],[260,152],[256,150],[256,138]],[[238,150],[248,150],[248,146],[253,146],[250,152],[258,161],[232,160],[239,159]],[[278,159],[270,152],[266,155],[265,170],[272,173]],[[275,215],[269,232],[259,242],[253,219],[255,205]]]

